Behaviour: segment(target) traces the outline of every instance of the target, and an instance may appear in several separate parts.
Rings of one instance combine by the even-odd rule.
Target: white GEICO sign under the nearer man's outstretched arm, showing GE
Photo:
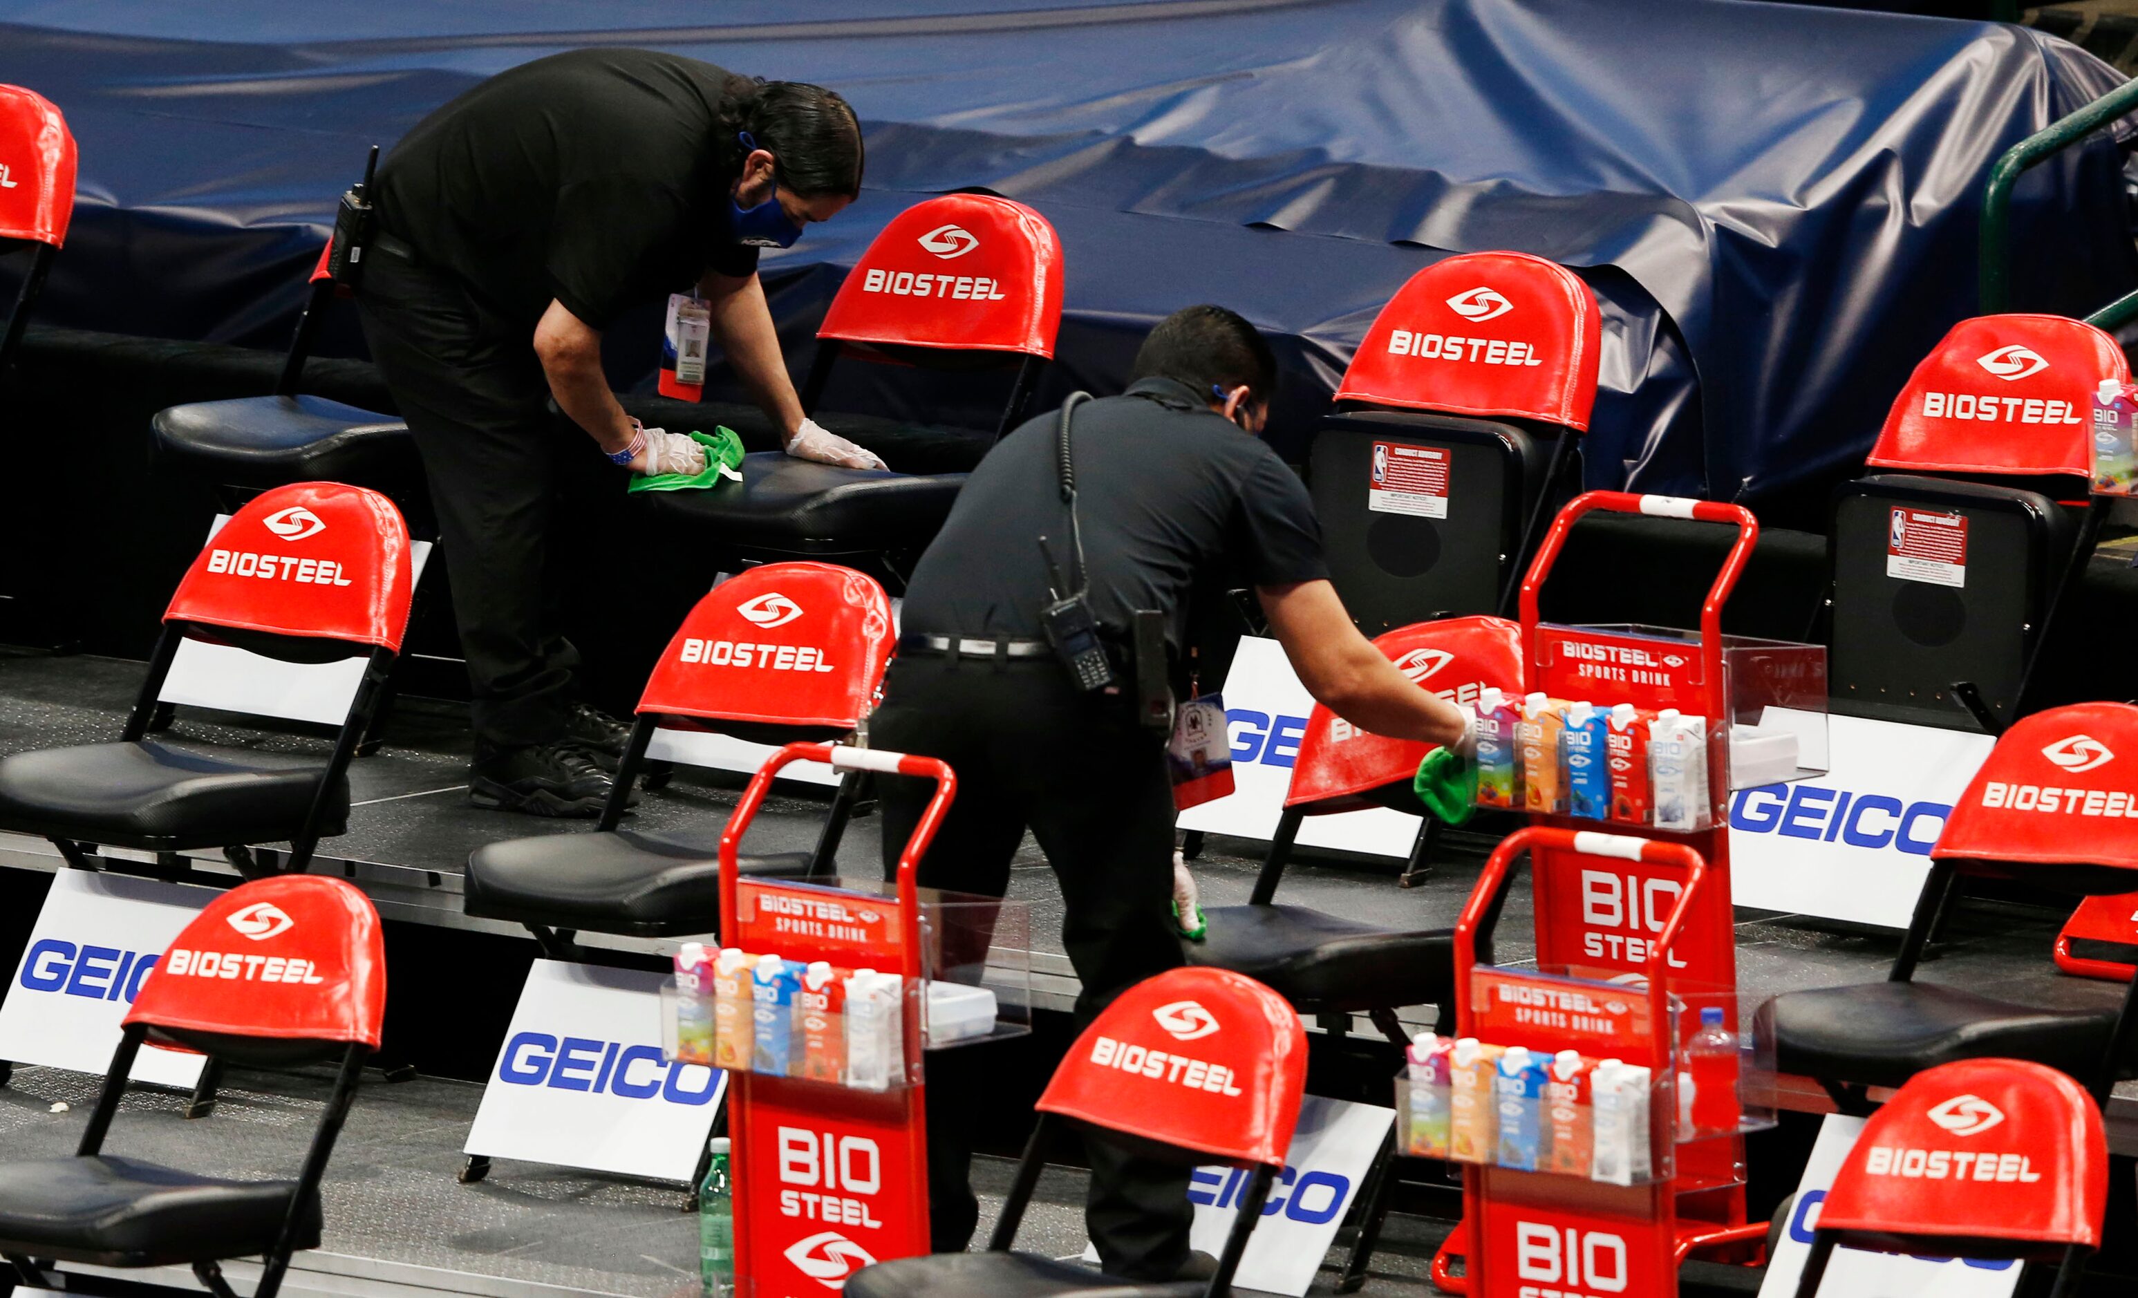
[[[1285,813],[1291,766],[1306,733],[1315,699],[1293,676],[1274,639],[1242,635],[1225,674],[1225,723],[1231,736],[1234,791],[1180,813],[1182,830],[1270,840]],[[1411,855],[1417,817],[1385,806],[1311,815],[1300,821],[1302,847],[1330,847],[1373,855]]]

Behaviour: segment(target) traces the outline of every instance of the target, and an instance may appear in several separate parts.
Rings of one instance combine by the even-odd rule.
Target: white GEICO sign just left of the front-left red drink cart
[[[537,960],[464,1153],[688,1180],[727,1073],[661,1059],[661,982]]]

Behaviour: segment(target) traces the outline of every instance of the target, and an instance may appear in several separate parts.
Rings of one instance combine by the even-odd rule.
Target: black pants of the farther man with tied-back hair
[[[554,524],[567,513],[560,496],[586,496],[614,473],[549,406],[532,329],[502,325],[449,274],[385,250],[368,259],[357,302],[430,479],[477,753],[560,740],[579,652],[556,629]]]

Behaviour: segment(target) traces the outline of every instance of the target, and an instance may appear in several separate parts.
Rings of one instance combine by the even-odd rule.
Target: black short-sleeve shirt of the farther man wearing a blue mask
[[[423,118],[378,165],[378,218],[505,327],[562,302],[605,329],[708,269],[748,276],[742,165],[721,105],[748,81],[652,49],[509,68]]]

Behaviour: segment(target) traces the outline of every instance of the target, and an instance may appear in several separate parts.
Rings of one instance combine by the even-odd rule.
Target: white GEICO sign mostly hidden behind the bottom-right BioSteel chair
[[[1834,1174],[1847,1161],[1862,1118],[1828,1114],[1819,1140],[1811,1146],[1804,1178],[1790,1204],[1790,1223],[1766,1264],[1760,1298],[1796,1298],[1796,1281],[1811,1255],[1811,1230],[1819,1223],[1819,1204],[1834,1185]],[[1914,1257],[1905,1253],[1858,1253],[1834,1249],[1819,1281],[1819,1298],[2010,1298],[2018,1287],[2018,1262],[1973,1262],[1954,1257]]]

